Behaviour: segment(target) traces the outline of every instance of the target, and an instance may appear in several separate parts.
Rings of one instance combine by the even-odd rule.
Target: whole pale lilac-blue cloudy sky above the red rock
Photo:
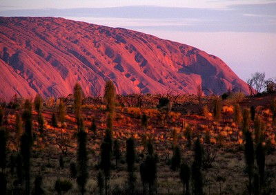
[[[273,0],[1,0],[0,16],[53,16],[139,30],[217,55],[246,80],[276,77]]]

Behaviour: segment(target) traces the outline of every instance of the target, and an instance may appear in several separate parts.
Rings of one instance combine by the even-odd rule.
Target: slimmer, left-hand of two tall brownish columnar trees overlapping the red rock
[[[81,120],[81,102],[82,102],[82,91],[81,85],[76,83],[74,86],[74,109],[75,117],[77,120],[77,130],[80,130],[80,120]]]

